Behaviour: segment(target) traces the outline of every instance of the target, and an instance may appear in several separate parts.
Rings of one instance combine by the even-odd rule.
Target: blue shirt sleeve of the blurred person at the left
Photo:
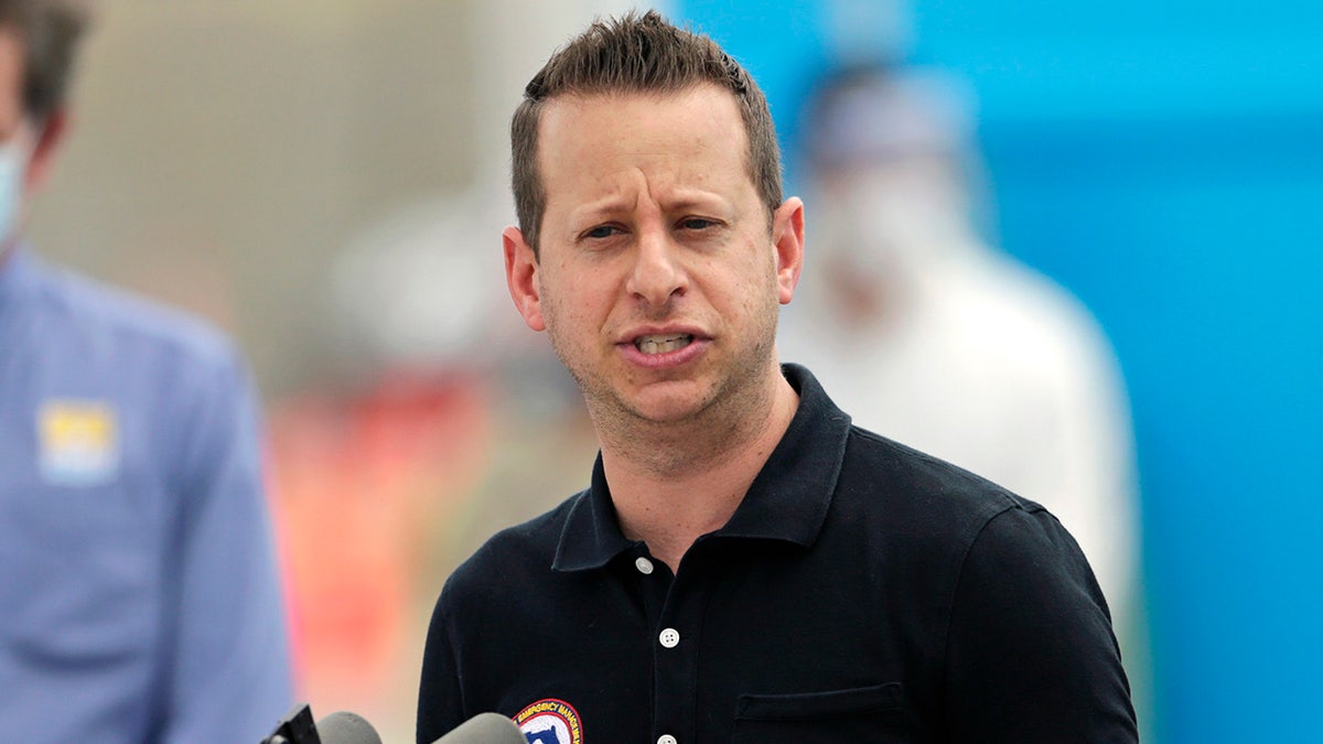
[[[257,401],[233,356],[192,389],[175,485],[173,642],[159,740],[259,741],[292,692]]]

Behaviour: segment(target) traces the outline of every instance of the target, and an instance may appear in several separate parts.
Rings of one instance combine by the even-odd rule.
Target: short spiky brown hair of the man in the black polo
[[[546,102],[566,94],[679,93],[701,83],[729,90],[749,139],[749,177],[771,213],[781,205],[781,152],[771,111],[753,77],[706,36],[667,23],[656,11],[595,21],[552,54],[524,87],[511,120],[511,181],[524,240],[537,253],[546,192],[537,168],[537,132]]]

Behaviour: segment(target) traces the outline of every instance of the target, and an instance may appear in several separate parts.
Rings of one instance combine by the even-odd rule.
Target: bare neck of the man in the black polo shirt
[[[777,376],[767,402],[726,425],[655,425],[602,438],[602,467],[620,528],[672,571],[701,535],[721,528],[781,442],[799,405]],[[619,434],[619,433],[617,433]]]

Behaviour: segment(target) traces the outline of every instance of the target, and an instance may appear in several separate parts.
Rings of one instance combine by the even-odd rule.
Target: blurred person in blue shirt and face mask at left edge
[[[22,238],[87,23],[0,0],[0,739],[255,741],[291,679],[245,365]]]

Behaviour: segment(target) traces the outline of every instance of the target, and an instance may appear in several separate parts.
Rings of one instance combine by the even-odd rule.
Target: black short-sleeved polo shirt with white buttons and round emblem
[[[419,744],[484,711],[556,744],[1138,740],[1061,524],[785,375],[786,436],[673,576],[620,534],[598,458],[590,488],[450,577]]]

